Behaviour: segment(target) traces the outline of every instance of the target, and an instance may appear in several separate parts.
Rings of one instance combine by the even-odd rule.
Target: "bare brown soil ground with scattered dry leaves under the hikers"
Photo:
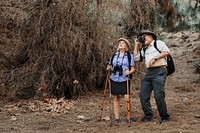
[[[174,36],[174,35],[173,35]],[[199,36],[199,34],[198,34]],[[170,37],[169,37],[170,39]],[[171,39],[173,40],[173,39]],[[165,41],[169,41],[165,39]],[[187,42],[182,41],[182,42]],[[194,62],[200,60],[193,43],[170,43],[176,72],[166,82],[166,102],[171,120],[160,124],[160,118],[152,95],[154,111],[153,122],[142,123],[143,117],[138,97],[139,85],[131,86],[131,116],[135,122],[128,127],[122,121],[110,126],[109,96],[105,99],[102,120],[97,121],[101,109],[103,91],[80,96],[73,100],[55,100],[44,103],[38,100],[26,100],[17,103],[0,104],[1,133],[199,133],[200,132],[200,84],[195,81]],[[198,43],[199,40],[196,40]],[[189,45],[191,44],[191,45]],[[173,45],[173,46],[172,46]],[[197,45],[197,44],[196,44]],[[199,43],[198,43],[199,45]],[[199,48],[199,47],[197,47]],[[178,52],[176,51],[178,49]],[[133,78],[134,80],[134,78]],[[121,118],[125,116],[123,99],[121,99]],[[113,107],[113,101],[112,106]],[[112,118],[114,119],[113,108]]]

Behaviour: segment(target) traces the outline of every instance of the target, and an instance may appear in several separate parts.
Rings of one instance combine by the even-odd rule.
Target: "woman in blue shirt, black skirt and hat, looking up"
[[[124,100],[127,102],[127,82],[130,81],[130,74],[134,72],[134,57],[129,51],[130,42],[125,38],[118,39],[117,52],[110,58],[108,69],[111,69],[110,83],[111,94],[114,96],[114,113],[115,122],[120,122],[120,95],[124,95]],[[130,82],[129,82],[130,94]],[[126,119],[127,120],[127,119]],[[133,120],[131,119],[131,122]]]

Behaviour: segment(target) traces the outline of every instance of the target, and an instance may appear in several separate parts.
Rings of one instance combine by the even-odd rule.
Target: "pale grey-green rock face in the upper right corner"
[[[200,0],[172,0],[177,12],[176,30],[200,30]]]

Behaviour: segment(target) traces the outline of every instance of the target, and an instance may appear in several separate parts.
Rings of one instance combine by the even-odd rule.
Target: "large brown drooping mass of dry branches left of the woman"
[[[49,96],[71,98],[102,84],[108,48],[88,1],[12,2],[0,6],[2,96],[31,98],[45,86]]]

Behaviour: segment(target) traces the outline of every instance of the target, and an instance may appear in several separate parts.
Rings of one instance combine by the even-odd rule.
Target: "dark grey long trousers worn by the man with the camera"
[[[165,102],[164,84],[167,77],[166,68],[150,68],[146,72],[140,89],[140,101],[146,118],[151,118],[153,112],[150,104],[150,95],[153,90],[159,115],[162,120],[168,120],[169,114]]]

